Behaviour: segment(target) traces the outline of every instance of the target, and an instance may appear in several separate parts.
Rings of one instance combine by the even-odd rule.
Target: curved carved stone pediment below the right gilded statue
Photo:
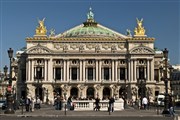
[[[135,47],[132,50],[130,50],[130,54],[155,54],[154,50],[149,47]]]

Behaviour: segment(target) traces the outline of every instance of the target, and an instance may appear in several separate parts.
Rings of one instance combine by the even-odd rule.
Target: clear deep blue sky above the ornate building
[[[180,63],[179,0],[0,0],[0,69],[9,65],[7,50],[26,46],[33,37],[38,18],[48,30],[64,32],[86,20],[89,7],[95,20],[119,33],[134,30],[136,17],[144,19],[148,37],[155,47],[167,48],[172,64]],[[15,55],[15,53],[14,53]]]

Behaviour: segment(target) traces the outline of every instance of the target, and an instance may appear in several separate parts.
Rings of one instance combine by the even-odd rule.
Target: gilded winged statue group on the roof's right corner
[[[144,27],[142,26],[143,24],[143,18],[141,18],[141,20],[139,20],[138,18],[136,18],[137,20],[137,27],[134,29],[134,33],[136,36],[144,36],[146,30],[144,29]]]

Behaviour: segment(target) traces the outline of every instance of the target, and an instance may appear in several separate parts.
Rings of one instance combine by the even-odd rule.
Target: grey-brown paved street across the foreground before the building
[[[4,114],[4,111],[0,112],[1,120],[30,120],[33,117],[33,120],[47,120],[50,117],[53,120],[63,118],[63,120],[109,120],[109,117],[112,120],[176,120],[177,117],[164,117],[161,114],[157,114],[155,108],[151,108],[151,110],[136,110],[134,108],[129,107],[123,111],[115,111],[109,113],[107,111],[61,111],[55,110],[53,106],[50,105],[42,105],[41,109],[38,109],[34,112],[26,112],[25,109],[22,114],[22,109],[19,109],[15,112],[15,114]]]

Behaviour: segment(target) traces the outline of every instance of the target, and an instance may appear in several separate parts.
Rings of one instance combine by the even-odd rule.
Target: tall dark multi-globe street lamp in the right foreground
[[[168,50],[167,48],[165,48],[163,50],[163,55],[164,55],[164,74],[163,77],[161,78],[162,80],[164,80],[164,84],[165,84],[165,99],[164,99],[164,110],[162,112],[162,114],[170,114],[169,111],[169,94],[168,94],[168,77],[167,77],[167,69],[168,69]],[[170,68],[170,70],[172,70]],[[163,68],[160,68],[160,71],[163,71]]]

